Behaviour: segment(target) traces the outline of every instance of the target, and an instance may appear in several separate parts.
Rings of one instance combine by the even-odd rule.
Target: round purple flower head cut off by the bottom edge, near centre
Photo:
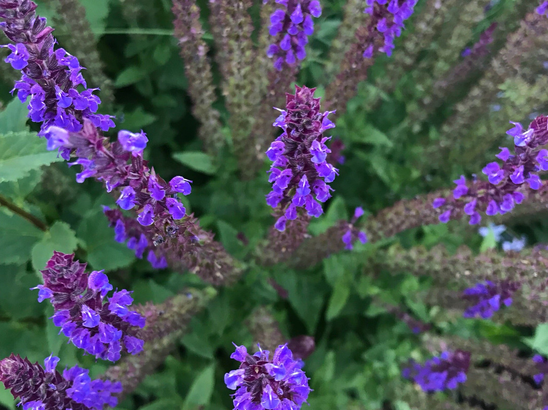
[[[225,374],[226,386],[236,390],[236,410],[298,410],[306,402],[310,388],[301,370],[304,363],[294,360],[287,344],[276,348],[272,360],[269,355],[267,350],[250,355],[245,346],[236,346],[230,355],[242,363]]]

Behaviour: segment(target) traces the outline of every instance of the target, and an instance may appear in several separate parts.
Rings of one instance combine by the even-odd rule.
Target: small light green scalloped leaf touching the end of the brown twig
[[[32,266],[38,271],[44,269],[47,261],[53,256],[53,251],[72,253],[76,249],[76,235],[68,224],[56,221],[42,240],[32,247]]]

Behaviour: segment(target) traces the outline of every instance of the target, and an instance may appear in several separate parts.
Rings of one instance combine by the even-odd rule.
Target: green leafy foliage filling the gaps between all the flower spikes
[[[52,3],[40,2],[39,12],[48,18],[52,16]],[[145,130],[150,141],[145,157],[157,173],[164,179],[183,175],[194,181],[192,195],[185,198],[187,210],[195,212],[201,225],[214,231],[231,254],[238,258],[249,255],[273,223],[264,200],[270,190],[266,173],[242,182],[230,150],[227,149],[221,161],[202,153],[196,137],[198,123],[190,113],[184,67],[172,35],[171,3],[168,0],[81,0],[81,3],[98,39],[106,75],[115,89],[115,104],[111,111],[104,112],[115,114],[120,128]],[[251,10],[257,25],[259,3]],[[473,36],[477,38],[509,4],[511,7],[511,0],[501,1],[478,24]],[[199,5],[207,26],[207,4],[202,1]],[[343,5],[342,0],[324,2],[309,57],[302,65],[300,84],[318,87],[319,94],[327,85],[322,83],[323,70]],[[134,19],[128,20],[128,14],[123,13],[126,7],[137,10]],[[412,22],[408,27],[413,30]],[[70,33],[65,27],[56,26],[55,35],[62,47]],[[397,47],[405,37],[397,42]],[[204,39],[214,47],[209,31]],[[435,49],[433,44],[430,51],[433,53]],[[68,52],[76,54],[70,49]],[[421,59],[429,58],[428,52],[423,54]],[[347,146],[346,162],[340,166],[340,176],[333,184],[335,195],[327,203],[326,215],[311,223],[312,234],[347,218],[356,206],[363,206],[372,214],[400,198],[448,186],[463,169],[459,163],[447,164],[446,169],[439,169],[432,178],[414,166],[417,161],[427,161],[423,158],[425,141],[436,140],[440,118],[447,117],[454,101],[446,101],[439,115],[420,124],[418,131],[416,127],[415,130],[404,127],[408,107],[418,97],[414,84],[409,82],[411,73],[400,79],[393,94],[382,96],[380,106],[368,110],[367,102],[380,92],[374,86],[375,78],[383,76],[388,65],[389,58],[379,58],[370,71],[369,81],[360,84],[346,114],[335,117],[334,135],[340,136]],[[98,375],[105,371],[107,363],[82,356],[73,345],[66,344],[48,320],[53,313],[50,306],[38,304],[36,291],[28,290],[39,283],[37,271],[54,249],[76,252],[77,258],[87,261],[93,269],[105,269],[115,287],[134,291],[137,303],[158,303],[185,286],[204,284],[191,274],[153,271],[146,261],[136,260],[131,250],[113,241],[113,231],[101,212],[102,204],[113,204],[112,198],[94,181],[77,184],[76,171],[59,162],[52,152],[45,151],[44,141],[35,136],[36,124],[26,122],[25,106],[12,101],[9,90],[13,76],[10,77],[11,68],[5,66],[0,85],[0,100],[4,104],[0,113],[0,195],[35,215],[47,230],[42,231],[0,207],[0,357],[15,352],[42,361],[53,352],[61,357],[61,366],[80,363],[90,368],[92,375]],[[101,84],[89,85],[101,87]],[[461,91],[464,93],[469,87],[470,84],[463,84]],[[226,119],[224,106],[219,104],[216,108]],[[272,111],[272,119],[275,117],[276,112]],[[227,137],[229,133],[227,130]],[[504,142],[503,137],[501,141]],[[486,157],[491,154],[486,153]],[[237,240],[238,232],[249,239],[247,246]],[[510,232],[516,236],[527,234],[529,244],[548,241],[543,221],[510,226]],[[444,243],[452,250],[466,244],[475,252],[494,246],[491,237],[482,243],[475,231],[460,224],[426,226],[404,232],[391,241],[405,247]],[[401,364],[409,357],[421,360],[427,354],[418,335],[375,301],[400,305],[425,322],[430,322],[438,309],[426,306],[416,297],[421,289],[429,287],[428,281],[411,275],[372,274],[365,270],[368,256],[377,247],[389,245],[390,242],[359,245],[352,252],[333,255],[308,271],[252,268],[241,282],[221,289],[206,310],[193,318],[178,350],[118,407],[231,408],[229,390],[222,377],[235,367],[235,362],[229,359],[232,341],[250,347],[253,338],[244,321],[253,308],[269,304],[287,335],[310,334],[316,338],[316,351],[305,366],[314,389],[310,395],[311,409],[374,410],[383,408],[387,401],[396,410],[408,409],[407,403],[398,397],[406,384],[400,378]],[[269,277],[287,289],[287,300],[278,297],[268,282]],[[548,353],[546,325],[541,325],[535,334],[535,329],[516,329],[510,324],[440,320],[438,316],[433,332],[477,335],[526,350],[533,346]],[[0,403],[14,408],[7,391],[0,391]]]

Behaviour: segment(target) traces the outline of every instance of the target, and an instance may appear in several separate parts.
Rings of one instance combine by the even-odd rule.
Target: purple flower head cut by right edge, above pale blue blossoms
[[[474,179],[467,183],[464,175],[455,180],[453,197],[436,198],[432,203],[434,208],[441,208],[441,222],[447,223],[464,212],[469,215],[471,225],[478,224],[481,221],[478,211],[487,215],[505,214],[524,200],[521,191],[526,187],[538,190],[543,186],[538,173],[548,170],[548,150],[538,147],[548,143],[548,117],[536,117],[527,130],[520,123],[512,124],[514,127],[507,134],[514,139],[515,155],[501,147],[496,157],[503,165],[490,162],[483,168],[488,182]]]

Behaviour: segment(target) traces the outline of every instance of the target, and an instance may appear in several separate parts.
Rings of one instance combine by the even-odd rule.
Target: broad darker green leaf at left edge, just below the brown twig
[[[0,212],[0,264],[22,264],[31,258],[31,248],[44,235],[19,215]]]

